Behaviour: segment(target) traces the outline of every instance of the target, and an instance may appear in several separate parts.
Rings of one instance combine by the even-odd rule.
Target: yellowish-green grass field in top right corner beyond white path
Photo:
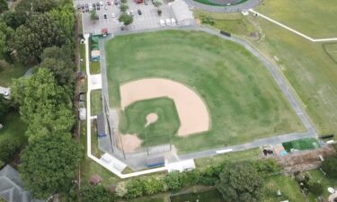
[[[265,0],[255,10],[312,38],[337,37],[336,0]]]

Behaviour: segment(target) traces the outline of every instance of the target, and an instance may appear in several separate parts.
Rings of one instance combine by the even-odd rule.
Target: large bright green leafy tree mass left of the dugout
[[[74,126],[67,89],[58,85],[49,69],[40,68],[29,78],[14,80],[11,90],[21,118],[28,125],[26,135],[30,142],[50,133],[64,134]]]

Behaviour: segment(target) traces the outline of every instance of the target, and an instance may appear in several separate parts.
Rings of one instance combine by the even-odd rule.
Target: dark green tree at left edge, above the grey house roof
[[[10,162],[14,154],[18,153],[22,147],[21,141],[13,136],[4,136],[0,141],[0,161]]]

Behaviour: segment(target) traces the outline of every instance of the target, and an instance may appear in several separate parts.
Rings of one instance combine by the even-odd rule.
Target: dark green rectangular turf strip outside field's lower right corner
[[[290,142],[285,142],[282,145],[285,148],[285,150],[287,150],[287,152],[290,152],[291,149],[307,150],[307,149],[315,149],[319,147],[317,139],[315,138],[294,140]]]

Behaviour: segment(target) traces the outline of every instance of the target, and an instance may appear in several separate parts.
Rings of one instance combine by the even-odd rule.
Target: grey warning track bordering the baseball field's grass
[[[254,48],[251,44],[249,44],[247,41],[242,40],[240,38],[237,38],[235,36],[232,37],[226,37],[222,34],[219,33],[219,31],[213,29],[213,28],[208,28],[204,26],[192,26],[192,27],[181,27],[181,28],[175,28],[177,30],[196,30],[196,31],[205,31],[208,32],[209,34],[212,35],[217,35],[218,37],[224,39],[224,40],[231,40],[234,41],[249,50],[255,57],[259,58],[262,64],[267,68],[267,70],[270,72],[270,75],[274,78],[275,82],[279,85],[279,89],[281,92],[283,92],[284,96],[289,102],[290,107],[296,112],[298,119],[301,120],[303,123],[304,127],[306,127],[306,132],[305,133],[290,133],[290,134],[285,134],[285,135],[280,135],[280,136],[272,136],[272,137],[267,137],[267,138],[261,138],[261,139],[256,139],[253,140],[253,142],[242,144],[242,145],[232,145],[232,146],[226,146],[222,148],[215,148],[211,150],[206,150],[202,152],[196,152],[196,153],[190,153],[190,154],[182,154],[179,155],[179,158],[181,160],[186,160],[186,159],[194,159],[194,158],[201,158],[201,157],[207,157],[207,156],[212,156],[216,154],[216,151],[218,150],[226,150],[226,149],[232,149],[233,152],[235,151],[242,151],[245,149],[251,149],[255,147],[260,147],[263,145],[277,145],[282,142],[290,141],[290,140],[297,140],[301,138],[306,138],[306,137],[315,137],[317,136],[317,132],[315,130],[314,125],[312,124],[311,120],[309,119],[308,115],[306,114],[306,110],[303,108],[303,104],[301,101],[297,99],[296,93],[290,86],[290,84],[287,82],[286,78],[284,75],[279,70],[279,66],[275,66],[273,63],[270,62],[270,60],[263,56],[262,53]],[[163,29],[153,29],[153,30],[146,30],[147,32],[149,31],[158,31],[158,30],[163,30]],[[136,32],[146,32],[146,31],[132,31],[129,33],[136,33]],[[128,32],[125,32],[124,34],[128,34]],[[110,40],[104,39],[104,40]],[[109,92],[108,92],[108,85],[107,85],[107,73],[106,73],[106,61],[105,61],[105,49],[104,49],[104,40],[100,40],[100,49],[101,49],[101,68],[102,68],[102,93],[107,99],[109,103]]]

